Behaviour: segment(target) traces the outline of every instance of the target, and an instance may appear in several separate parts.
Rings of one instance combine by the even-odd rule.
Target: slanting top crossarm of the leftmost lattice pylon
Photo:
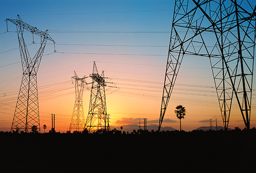
[[[52,37],[47,33],[47,32],[43,32],[43,31],[40,31],[39,29],[37,29],[36,27],[32,27],[31,25],[28,25],[27,23],[23,22],[21,19],[20,19],[20,16],[18,15],[17,17],[18,19],[15,20],[15,19],[6,19],[7,21],[10,21],[12,23],[14,23],[15,25],[17,26],[20,26],[20,27],[23,27],[24,29],[26,29],[27,31],[30,31],[31,33],[35,33],[41,37],[43,37],[44,39],[47,39],[47,40],[50,40],[50,41],[53,41],[54,40],[52,39]],[[47,30],[46,30],[47,31]]]

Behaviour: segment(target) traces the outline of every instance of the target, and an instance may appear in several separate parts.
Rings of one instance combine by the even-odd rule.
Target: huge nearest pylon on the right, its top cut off
[[[255,41],[256,2],[175,0],[159,130],[185,55],[209,58],[225,129],[233,99],[249,129]]]

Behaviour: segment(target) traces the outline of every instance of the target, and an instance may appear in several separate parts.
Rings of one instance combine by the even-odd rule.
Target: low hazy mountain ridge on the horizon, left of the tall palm
[[[125,131],[125,132],[133,132],[133,130],[138,130],[140,127],[137,125],[137,124],[129,124],[129,125],[126,125],[126,126],[122,126],[123,129],[122,131]],[[113,129],[116,129],[116,130],[121,130],[121,126],[110,126],[110,130],[113,130]],[[144,126],[142,125],[141,126],[141,129],[144,130]],[[150,132],[151,130],[154,130],[154,131],[157,131],[158,130],[158,125],[156,124],[152,124],[152,125],[147,125],[147,130]],[[166,127],[161,127],[161,131],[175,131],[176,129],[173,128],[173,127],[169,127],[169,126],[166,126]]]

